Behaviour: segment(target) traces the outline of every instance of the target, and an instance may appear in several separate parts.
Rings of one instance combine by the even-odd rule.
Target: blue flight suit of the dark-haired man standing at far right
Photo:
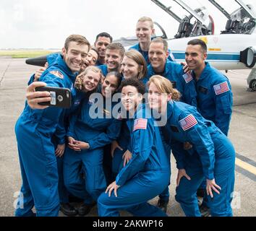
[[[211,67],[209,63],[205,64],[205,69],[195,83],[197,110],[204,118],[213,121],[227,136],[233,105],[231,84],[221,72]]]

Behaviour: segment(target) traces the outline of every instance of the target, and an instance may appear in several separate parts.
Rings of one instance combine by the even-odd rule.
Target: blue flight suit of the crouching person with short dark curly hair
[[[111,196],[102,193],[98,198],[100,217],[119,216],[118,210],[127,210],[135,216],[166,216],[158,207],[148,204],[161,193],[170,181],[170,162],[163,147],[159,128],[148,118],[145,105],[138,105],[134,118],[127,125],[131,134],[132,159],[116,176],[121,186]]]

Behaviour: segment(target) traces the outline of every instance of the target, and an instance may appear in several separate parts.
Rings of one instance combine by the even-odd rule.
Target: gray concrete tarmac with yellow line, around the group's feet
[[[0,56],[0,217],[14,215],[14,202],[22,184],[14,126],[25,105],[25,89],[37,66],[25,64],[25,59]],[[234,216],[256,216],[256,92],[247,91],[249,70],[229,71],[234,108],[229,138],[236,149],[236,182],[234,191]],[[241,165],[242,160],[242,165]],[[239,164],[240,163],[240,164]],[[245,164],[244,164],[245,163]],[[168,216],[183,217],[174,199],[176,167],[171,157],[171,184]],[[157,198],[150,201],[157,204]],[[121,212],[122,216],[129,216]],[[64,216],[59,213],[59,216]],[[97,216],[96,206],[88,216]]]

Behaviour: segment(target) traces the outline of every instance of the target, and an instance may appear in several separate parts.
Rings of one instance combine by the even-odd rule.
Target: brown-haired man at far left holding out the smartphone
[[[89,49],[90,43],[85,37],[70,35],[62,48],[62,55],[59,54],[54,64],[43,72],[40,82],[27,88],[27,103],[15,126],[22,173],[15,216],[34,216],[33,206],[38,217],[59,214],[58,170],[51,137],[64,109],[38,105],[39,101],[50,101],[51,97],[48,92],[34,92],[34,87],[40,87],[44,82],[47,87],[71,89]],[[40,98],[42,96],[46,97]],[[64,140],[59,144],[64,144]]]

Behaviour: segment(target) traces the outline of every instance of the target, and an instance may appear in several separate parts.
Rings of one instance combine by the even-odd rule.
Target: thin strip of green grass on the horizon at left
[[[55,53],[57,51],[46,50],[0,50],[0,56],[12,56],[12,58],[35,58],[38,56],[46,56],[49,53]]]

